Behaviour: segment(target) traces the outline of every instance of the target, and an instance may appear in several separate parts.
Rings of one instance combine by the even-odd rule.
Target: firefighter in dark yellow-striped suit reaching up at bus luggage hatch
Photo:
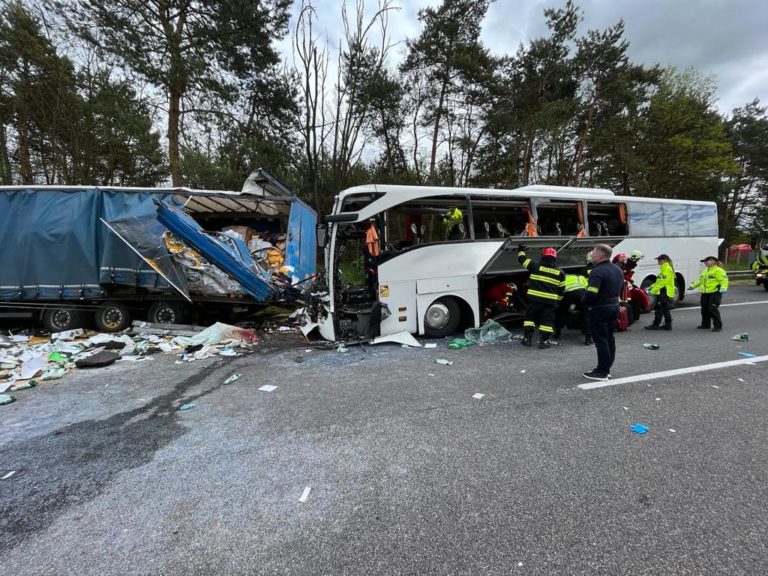
[[[522,344],[530,346],[533,332],[538,328],[539,348],[549,348],[555,332],[555,312],[565,289],[565,274],[557,267],[557,250],[554,248],[544,248],[540,262],[528,258],[525,248],[524,244],[517,248],[517,259],[531,274]]]

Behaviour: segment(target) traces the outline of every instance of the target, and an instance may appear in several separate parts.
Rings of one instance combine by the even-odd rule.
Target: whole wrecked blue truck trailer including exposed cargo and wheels
[[[315,212],[260,169],[236,191],[0,187],[0,313],[51,332],[181,323],[296,300]]]

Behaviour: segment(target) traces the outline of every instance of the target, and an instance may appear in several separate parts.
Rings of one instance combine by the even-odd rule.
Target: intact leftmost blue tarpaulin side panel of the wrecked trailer
[[[99,286],[100,192],[0,194],[0,298],[93,298]]]

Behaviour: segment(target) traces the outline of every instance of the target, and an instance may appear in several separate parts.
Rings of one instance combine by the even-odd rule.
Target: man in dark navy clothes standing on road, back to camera
[[[624,287],[624,273],[611,263],[611,247],[597,244],[592,249],[592,271],[584,295],[589,328],[597,348],[597,368],[582,375],[590,380],[608,380],[616,359],[616,318],[619,315],[619,295]]]

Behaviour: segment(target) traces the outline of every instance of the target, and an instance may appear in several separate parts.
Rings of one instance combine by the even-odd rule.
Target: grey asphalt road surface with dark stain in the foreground
[[[719,334],[694,303],[635,325],[613,376],[768,355],[766,301],[734,287]],[[764,574],[768,363],[578,388],[595,359],[570,331],[155,357],[16,392],[0,573]]]

